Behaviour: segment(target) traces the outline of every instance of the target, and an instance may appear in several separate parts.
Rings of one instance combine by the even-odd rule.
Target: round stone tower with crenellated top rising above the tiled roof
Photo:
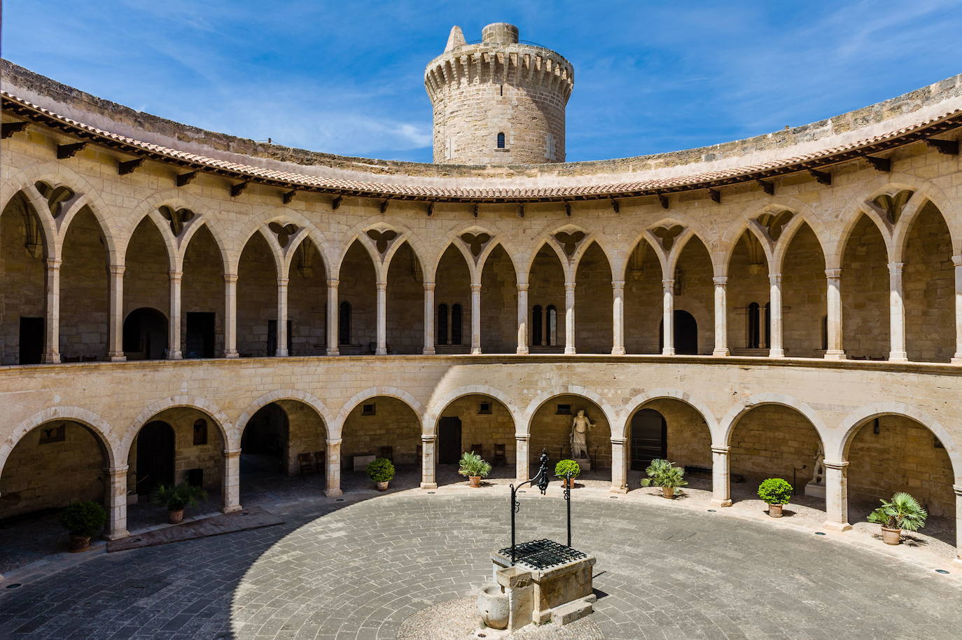
[[[565,105],[573,85],[571,64],[519,42],[513,24],[489,24],[481,41],[470,44],[453,27],[444,53],[424,70],[434,105],[434,162],[565,162]]]

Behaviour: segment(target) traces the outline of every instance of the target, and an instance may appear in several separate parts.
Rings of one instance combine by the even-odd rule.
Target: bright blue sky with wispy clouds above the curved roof
[[[568,159],[736,140],[962,72],[962,0],[6,0],[2,55],[135,109],[316,151],[431,161],[423,69],[489,22],[574,65]]]

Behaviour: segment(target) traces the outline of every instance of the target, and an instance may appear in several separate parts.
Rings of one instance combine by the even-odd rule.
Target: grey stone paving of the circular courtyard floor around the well
[[[519,540],[564,540],[564,502],[521,497]],[[396,637],[490,579],[507,498],[415,491],[274,509],[287,524],[90,556],[0,589],[0,637]],[[957,638],[962,590],[796,530],[605,495],[574,503],[605,638]],[[954,573],[954,572],[953,572]]]

